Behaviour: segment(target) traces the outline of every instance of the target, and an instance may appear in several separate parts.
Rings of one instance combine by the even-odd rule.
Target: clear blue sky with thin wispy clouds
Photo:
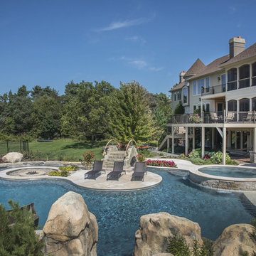
[[[70,81],[137,80],[168,93],[196,58],[256,42],[255,0],[0,0],[0,94],[26,85],[60,94]]]

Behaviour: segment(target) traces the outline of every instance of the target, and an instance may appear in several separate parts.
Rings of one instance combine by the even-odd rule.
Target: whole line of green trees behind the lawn
[[[0,139],[116,138],[127,142],[158,139],[166,129],[171,100],[151,94],[138,82],[68,82],[64,95],[55,89],[25,85],[0,95]]]

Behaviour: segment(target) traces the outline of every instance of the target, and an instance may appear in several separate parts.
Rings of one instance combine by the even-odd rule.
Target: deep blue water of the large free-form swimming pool
[[[152,171],[152,169],[150,169]],[[182,177],[154,170],[163,181],[154,188],[134,192],[103,192],[80,188],[68,181],[6,181],[0,179],[0,203],[11,198],[20,205],[35,203],[39,223],[44,225],[50,206],[64,193],[82,194],[99,225],[97,255],[131,256],[134,233],[144,214],[167,212],[193,220],[202,235],[215,240],[228,225],[250,223],[252,215],[242,205],[240,194],[218,193],[198,188]],[[117,181],[118,182],[118,181]]]

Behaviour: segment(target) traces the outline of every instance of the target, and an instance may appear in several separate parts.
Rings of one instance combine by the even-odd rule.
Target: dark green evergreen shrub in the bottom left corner
[[[8,201],[13,209],[10,213],[0,204],[0,255],[43,256],[43,241],[35,233],[34,218],[31,212],[21,211],[18,203]],[[9,215],[14,224],[9,225]]]

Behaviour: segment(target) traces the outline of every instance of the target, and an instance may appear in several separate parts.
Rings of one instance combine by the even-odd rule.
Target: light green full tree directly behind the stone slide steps
[[[148,142],[154,135],[149,95],[138,82],[120,83],[110,104],[112,136],[119,142]]]

